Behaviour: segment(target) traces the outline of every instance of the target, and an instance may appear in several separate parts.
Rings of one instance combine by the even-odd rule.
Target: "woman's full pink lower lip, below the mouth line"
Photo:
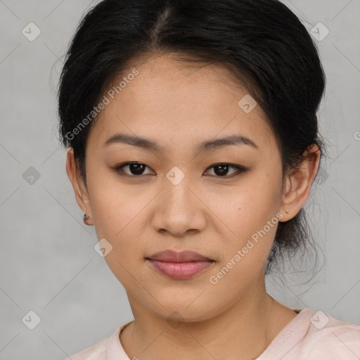
[[[200,262],[160,262],[151,259],[148,259],[148,262],[150,262],[160,274],[174,279],[192,278],[209,268],[213,263],[210,260]]]

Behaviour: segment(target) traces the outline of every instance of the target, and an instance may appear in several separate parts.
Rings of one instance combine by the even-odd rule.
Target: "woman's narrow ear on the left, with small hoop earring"
[[[77,205],[79,205],[82,211],[86,212],[87,215],[92,216],[89,193],[86,185],[84,184],[84,179],[80,175],[79,169],[77,167],[73,148],[68,149],[66,158],[66,172],[68,173],[72,188],[74,189]],[[87,219],[86,221],[84,220],[84,222],[87,225],[93,225],[92,219]]]

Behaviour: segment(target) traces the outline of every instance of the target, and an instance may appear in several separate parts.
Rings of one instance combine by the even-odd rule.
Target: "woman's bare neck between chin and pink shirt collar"
[[[217,316],[174,326],[133,297],[129,301],[135,320],[120,333],[120,341],[130,359],[141,360],[256,359],[296,316],[268,295],[264,286]]]

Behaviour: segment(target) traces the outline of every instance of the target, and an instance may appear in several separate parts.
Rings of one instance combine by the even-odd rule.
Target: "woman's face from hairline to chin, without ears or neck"
[[[113,247],[105,261],[131,307],[209,319],[263,287],[282,216],[276,139],[259,105],[239,105],[248,92],[219,65],[172,56],[131,65],[139,74],[107,95],[89,133],[86,211]],[[106,143],[116,134],[123,141]],[[170,264],[168,276],[148,260],[165,250],[212,262]]]

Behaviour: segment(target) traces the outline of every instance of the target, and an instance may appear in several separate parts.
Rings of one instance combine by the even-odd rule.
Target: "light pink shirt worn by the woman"
[[[360,326],[322,311],[302,309],[256,360],[359,360]],[[129,321],[131,323],[132,321]],[[66,360],[131,360],[122,348],[120,331]],[[136,358],[135,358],[136,359]]]

